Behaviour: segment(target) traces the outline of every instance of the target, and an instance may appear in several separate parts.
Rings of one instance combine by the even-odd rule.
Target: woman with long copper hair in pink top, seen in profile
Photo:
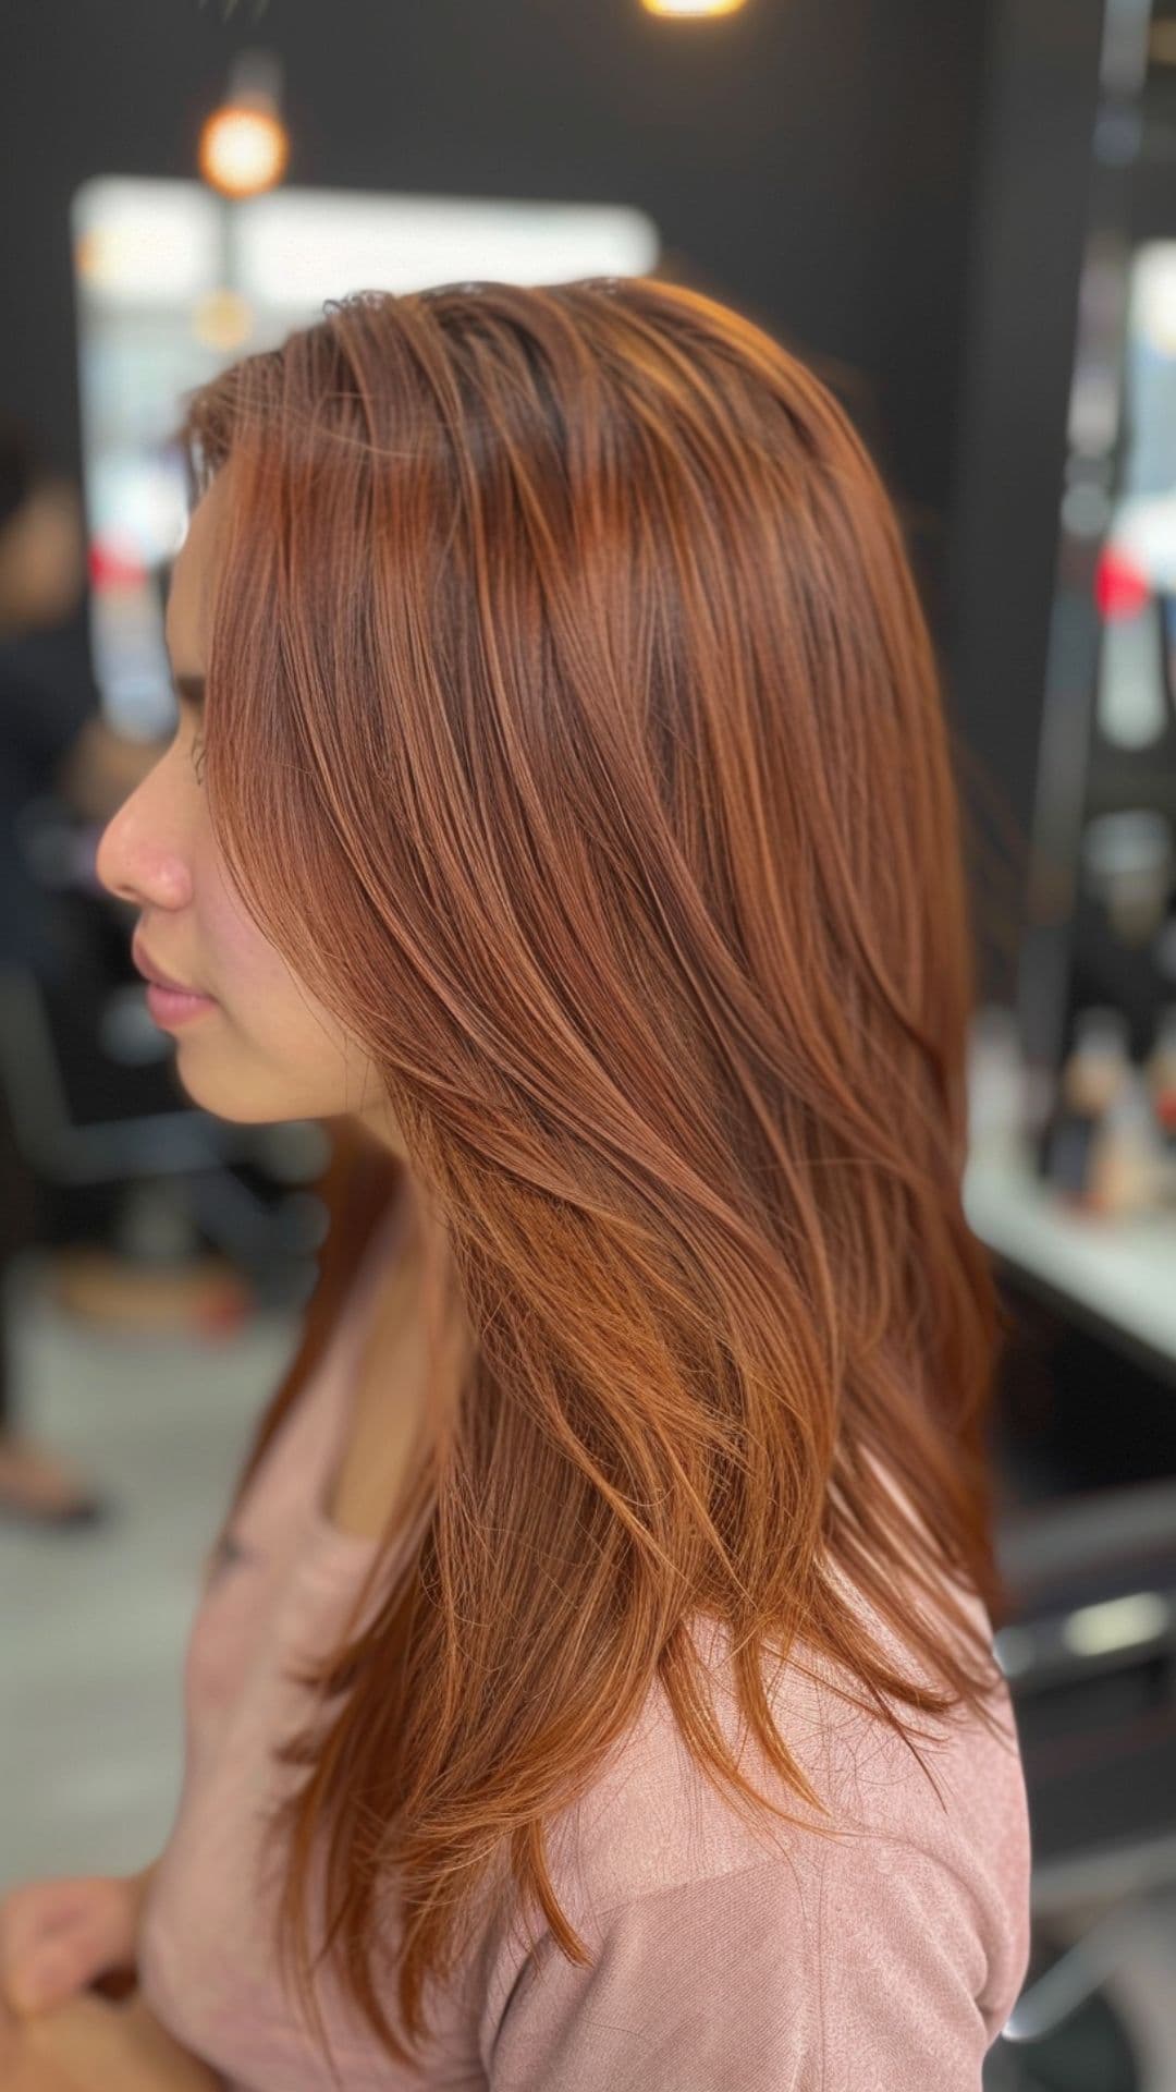
[[[184,437],[180,726],[98,872],[193,1100],[341,1138],[178,1818],[59,1994],[121,1939],[232,2092],[979,2086],[998,1305],[875,469],[653,278],[343,299]]]

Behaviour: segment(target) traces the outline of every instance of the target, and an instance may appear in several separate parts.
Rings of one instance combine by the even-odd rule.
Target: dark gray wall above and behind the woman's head
[[[699,282],[860,372],[937,596],[986,6],[749,0],[670,23],[638,0],[6,0],[0,400],[75,458],[69,197],[190,174],[230,54],[262,42],[291,182],[636,203]]]

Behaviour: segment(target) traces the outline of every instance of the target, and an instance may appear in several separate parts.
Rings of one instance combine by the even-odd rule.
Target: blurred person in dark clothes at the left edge
[[[61,761],[94,711],[80,672],[73,619],[84,602],[86,536],[77,487],[46,471],[27,431],[0,418],[0,979],[29,971],[59,983],[67,954],[52,895],[19,841],[21,812],[54,787]],[[0,1021],[4,1004],[0,1000]],[[10,1266],[36,1241],[38,1184],[25,1163],[0,1082],[0,1515],[44,1523],[90,1521],[103,1500],[19,1418],[6,1312]]]

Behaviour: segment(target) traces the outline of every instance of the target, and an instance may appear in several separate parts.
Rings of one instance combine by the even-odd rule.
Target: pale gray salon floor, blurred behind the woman
[[[297,1316],[230,1339],[115,1335],[65,1318],[27,1253],[4,1278],[21,1420],[117,1498],[94,1529],[0,1517],[0,1893],[128,1872],[167,1837],[182,1753],[180,1665],[199,1569]],[[1073,1912],[1082,1931],[1096,1910]],[[1176,1904],[1109,1985],[1176,2092]]]

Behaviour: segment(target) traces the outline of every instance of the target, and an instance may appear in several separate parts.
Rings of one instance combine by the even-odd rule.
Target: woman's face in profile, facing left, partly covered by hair
[[[190,1015],[161,1017],[195,1105],[241,1123],[360,1117],[395,1146],[362,1048],[247,916],[213,841],[199,780],[203,720],[184,684],[205,674],[228,500],[224,467],[172,569],[165,636],[180,703],[176,736],[107,822],[96,872],[138,908],[136,943],[149,969],[211,998]]]

